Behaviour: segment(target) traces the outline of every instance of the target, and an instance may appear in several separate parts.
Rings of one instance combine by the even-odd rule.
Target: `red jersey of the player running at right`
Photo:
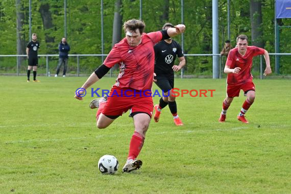
[[[251,74],[251,68],[253,65],[253,57],[257,55],[263,55],[264,49],[257,46],[247,46],[247,51],[245,55],[238,53],[238,48],[233,48],[230,50],[226,65],[233,69],[235,67],[240,67],[238,74],[228,74],[227,84],[240,85],[253,80],[253,75]]]

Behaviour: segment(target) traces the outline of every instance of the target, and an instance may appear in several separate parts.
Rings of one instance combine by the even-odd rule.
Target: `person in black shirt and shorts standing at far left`
[[[26,54],[28,59],[28,69],[27,69],[27,82],[30,82],[30,71],[33,69],[33,81],[40,82],[36,80],[36,70],[38,65],[38,56],[37,51],[40,47],[39,42],[37,41],[37,36],[35,33],[32,34],[32,41],[27,44]]]

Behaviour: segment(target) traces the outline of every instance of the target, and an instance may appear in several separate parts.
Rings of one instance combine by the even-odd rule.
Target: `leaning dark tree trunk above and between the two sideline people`
[[[55,42],[54,37],[50,36],[52,33],[49,31],[54,27],[52,13],[50,12],[50,5],[48,3],[42,3],[39,7],[39,12],[43,23],[43,30],[45,32],[45,42]],[[51,47],[52,45],[48,44],[48,46]]]

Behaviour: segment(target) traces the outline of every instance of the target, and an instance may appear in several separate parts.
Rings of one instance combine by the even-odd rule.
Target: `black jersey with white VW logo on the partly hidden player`
[[[162,40],[154,46],[155,73],[159,75],[174,75],[172,69],[176,56],[183,57],[183,51],[178,42],[172,40],[171,44]]]

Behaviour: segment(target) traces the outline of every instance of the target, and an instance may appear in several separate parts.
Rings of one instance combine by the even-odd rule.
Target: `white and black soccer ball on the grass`
[[[118,160],[111,155],[104,155],[98,161],[98,168],[102,174],[114,174],[118,169]]]

